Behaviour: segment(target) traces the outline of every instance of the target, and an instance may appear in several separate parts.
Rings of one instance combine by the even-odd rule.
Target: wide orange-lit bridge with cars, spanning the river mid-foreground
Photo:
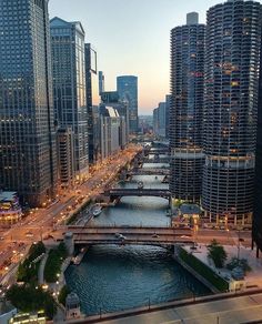
[[[73,234],[73,241],[77,245],[129,244],[172,246],[177,243],[193,242],[193,231],[191,229],[134,226],[84,227],[71,225],[67,227],[67,231]],[[62,234],[60,233],[59,240],[62,240]]]

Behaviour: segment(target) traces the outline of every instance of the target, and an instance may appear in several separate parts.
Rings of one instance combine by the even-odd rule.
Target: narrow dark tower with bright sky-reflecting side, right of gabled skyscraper
[[[93,105],[99,104],[99,79],[97,51],[90,43],[84,44],[85,57],[85,92],[88,109],[88,142],[89,163],[95,163],[94,138],[93,138]]]

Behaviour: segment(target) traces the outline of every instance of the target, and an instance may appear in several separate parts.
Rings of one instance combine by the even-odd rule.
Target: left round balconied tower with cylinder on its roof
[[[170,190],[188,202],[200,201],[202,185],[204,38],[195,12],[171,31]]]

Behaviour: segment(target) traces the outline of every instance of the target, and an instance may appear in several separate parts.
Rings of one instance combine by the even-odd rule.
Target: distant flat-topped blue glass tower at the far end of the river
[[[122,75],[117,78],[117,90],[120,100],[129,102],[129,131],[138,132],[138,77]]]

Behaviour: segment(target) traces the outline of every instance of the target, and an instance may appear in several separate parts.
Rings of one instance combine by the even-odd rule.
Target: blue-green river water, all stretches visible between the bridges
[[[143,181],[144,188],[168,188],[162,180],[163,176],[140,175],[119,185],[137,188],[138,181]],[[168,207],[168,200],[161,198],[128,196],[103,210],[92,224],[169,226]],[[209,293],[173,260],[170,251],[155,246],[92,246],[80,265],[69,266],[66,280],[79,295],[87,315]]]

